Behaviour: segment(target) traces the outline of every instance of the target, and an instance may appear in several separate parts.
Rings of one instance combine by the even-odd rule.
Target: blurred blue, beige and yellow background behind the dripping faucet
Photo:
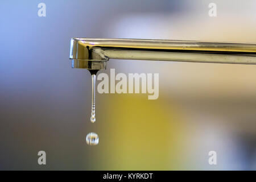
[[[0,169],[255,170],[256,66],[110,60],[108,74],[159,73],[159,98],[97,93],[90,123],[90,73],[68,59],[72,37],[256,43],[255,32],[254,0],[2,0]]]

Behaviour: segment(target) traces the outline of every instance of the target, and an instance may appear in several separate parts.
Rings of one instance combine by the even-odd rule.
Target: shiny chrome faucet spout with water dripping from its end
[[[109,59],[256,64],[256,43],[72,38],[69,59],[92,74]]]

